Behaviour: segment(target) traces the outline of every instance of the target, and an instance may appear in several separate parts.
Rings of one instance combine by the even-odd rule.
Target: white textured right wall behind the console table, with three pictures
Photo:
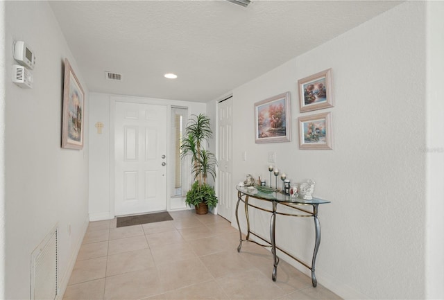
[[[345,298],[426,294],[425,6],[402,3],[233,91],[233,185],[247,173],[268,182],[268,151],[293,181],[316,181],[314,195],[332,201],[320,207],[316,274]],[[335,107],[300,114],[298,79],[328,68]],[[255,144],[254,103],[285,91],[291,92],[291,142]],[[332,112],[334,150],[299,150],[297,118],[318,112]],[[269,216],[253,213],[252,222],[268,235]],[[308,263],[312,222],[282,217],[277,225],[278,243]]]

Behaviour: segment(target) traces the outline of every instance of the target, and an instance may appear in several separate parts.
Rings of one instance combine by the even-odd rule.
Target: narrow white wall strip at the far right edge
[[[427,2],[427,299],[444,299],[444,2]]]

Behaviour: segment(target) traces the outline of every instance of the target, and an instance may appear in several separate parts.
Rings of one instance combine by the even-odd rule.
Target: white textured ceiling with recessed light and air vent
[[[49,3],[89,91],[207,102],[400,2]]]

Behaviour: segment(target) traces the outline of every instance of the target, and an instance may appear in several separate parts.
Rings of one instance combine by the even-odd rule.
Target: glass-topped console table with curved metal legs
[[[301,198],[292,198],[289,195],[284,195],[278,191],[273,193],[264,193],[261,191],[258,191],[256,188],[253,190],[248,190],[246,187],[243,186],[236,186],[237,189],[237,205],[236,205],[236,220],[237,220],[237,227],[239,227],[239,247],[237,247],[237,252],[241,252],[242,242],[244,241],[250,241],[255,242],[257,245],[261,245],[264,247],[271,247],[271,253],[273,254],[273,273],[271,275],[273,281],[276,281],[277,277],[277,268],[279,263],[279,258],[276,255],[276,249],[279,249],[284,254],[287,254],[294,260],[298,261],[298,263],[301,263],[305,267],[309,268],[311,270],[311,283],[314,287],[318,284],[318,281],[316,280],[316,275],[314,274],[314,265],[316,263],[316,255],[318,254],[319,244],[321,243],[321,224],[319,224],[318,220],[318,206],[319,204],[325,204],[330,203],[330,201],[313,198],[312,200],[303,200]],[[264,200],[266,202],[271,202],[271,209],[264,209],[262,207],[256,206],[254,204],[248,203],[248,198],[253,197],[258,200]],[[238,209],[239,209],[239,203],[244,202],[245,204],[245,215],[246,215],[246,221],[247,221],[247,234],[246,239],[242,239],[242,232],[241,232],[241,225],[239,224],[239,216],[238,216]],[[298,212],[297,213],[282,213],[277,211],[278,210],[278,204],[287,206],[291,209],[295,209]],[[254,233],[250,230],[250,218],[248,215],[248,206],[253,207],[255,209],[259,209],[261,211],[267,211],[268,213],[272,213],[271,215],[271,221],[270,221],[270,240],[266,240],[265,238],[262,238],[261,236],[257,235],[257,233]],[[305,208],[305,206],[311,206],[311,211],[309,208]],[[311,266],[307,263],[304,263],[299,258],[296,258],[292,256],[291,254],[285,252],[283,249],[280,249],[280,247],[276,246],[276,240],[275,240],[275,224],[276,224],[276,215],[288,215],[291,217],[313,217],[314,218],[314,230],[315,230],[315,243],[314,243],[314,251],[313,251],[313,258],[311,260]],[[250,234],[253,236],[256,236],[257,238],[263,240],[268,245],[262,245],[259,244],[259,242],[256,242],[255,240],[250,240]]]

